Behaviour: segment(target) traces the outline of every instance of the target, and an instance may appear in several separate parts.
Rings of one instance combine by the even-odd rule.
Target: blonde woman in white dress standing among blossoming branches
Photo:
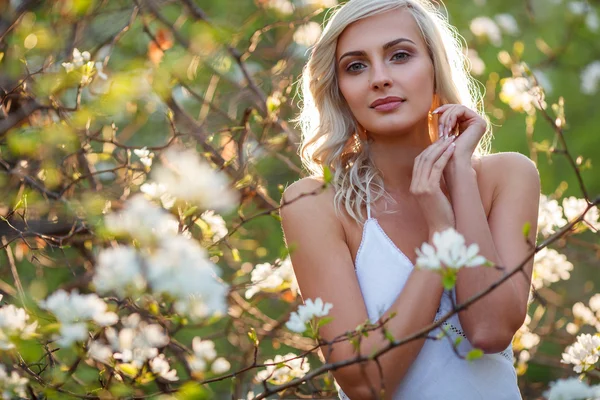
[[[517,153],[484,155],[488,124],[460,44],[428,1],[349,1],[303,74],[301,156],[313,176],[286,189],[281,215],[303,298],[333,304],[324,340],[391,313],[386,329],[406,337],[446,314],[451,297],[464,302],[527,258],[522,232],[531,224],[527,239],[535,242],[537,170]],[[332,184],[320,192],[324,167]],[[413,266],[415,249],[447,228],[505,270],[461,270],[453,292],[444,292],[438,274]],[[510,343],[525,319],[531,270],[530,260],[525,274],[450,318],[452,340],[412,341],[379,365],[333,371],[340,395],[520,399]],[[459,336],[465,340],[454,349]],[[363,355],[388,344],[378,332],[362,339]],[[485,354],[472,362],[457,356],[474,347]],[[327,362],[356,355],[347,341],[322,350]]]

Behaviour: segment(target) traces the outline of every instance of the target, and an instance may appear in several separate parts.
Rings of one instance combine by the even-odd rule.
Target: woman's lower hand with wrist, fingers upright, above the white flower
[[[436,140],[415,158],[410,193],[418,198],[430,236],[455,226],[454,211],[442,191],[442,172],[456,151],[454,136]]]

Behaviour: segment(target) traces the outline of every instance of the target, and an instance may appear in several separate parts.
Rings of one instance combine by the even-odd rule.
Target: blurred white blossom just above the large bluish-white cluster
[[[106,227],[115,234],[126,234],[143,245],[152,245],[165,235],[176,235],[179,222],[143,195],[131,197],[120,213],[108,214]]]

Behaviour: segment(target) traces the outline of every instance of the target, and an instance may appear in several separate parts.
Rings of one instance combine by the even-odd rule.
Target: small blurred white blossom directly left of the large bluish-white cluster
[[[98,293],[115,292],[119,298],[141,293],[146,287],[139,256],[133,247],[104,249],[93,278]]]

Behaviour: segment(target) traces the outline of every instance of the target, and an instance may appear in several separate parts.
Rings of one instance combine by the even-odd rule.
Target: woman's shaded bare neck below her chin
[[[388,193],[408,193],[415,158],[432,143],[427,122],[398,135],[369,133],[369,151]]]

